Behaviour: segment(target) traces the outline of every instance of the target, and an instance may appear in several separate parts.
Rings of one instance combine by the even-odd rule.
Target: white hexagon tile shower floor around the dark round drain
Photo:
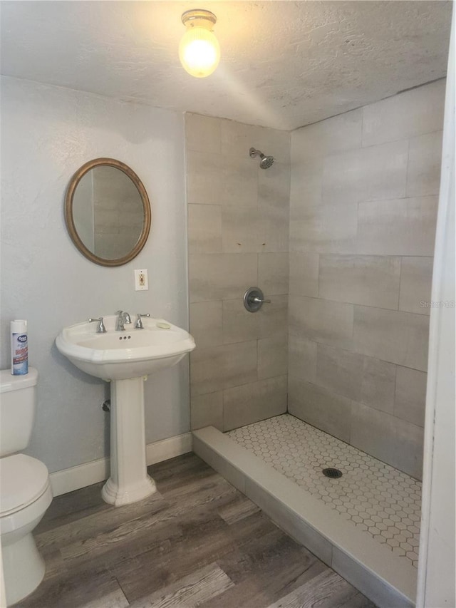
[[[227,435],[341,517],[418,566],[421,483],[289,414]],[[323,469],[338,468],[341,478]]]

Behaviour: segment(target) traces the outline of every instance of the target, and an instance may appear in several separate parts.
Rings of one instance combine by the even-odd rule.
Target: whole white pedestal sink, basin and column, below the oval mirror
[[[110,478],[103,500],[135,503],[155,492],[145,460],[144,381],[177,364],[195,348],[185,329],[165,319],[142,318],[144,329],[116,331],[116,315],[105,316],[105,334],[84,321],[64,327],[58,350],[76,367],[111,383]]]

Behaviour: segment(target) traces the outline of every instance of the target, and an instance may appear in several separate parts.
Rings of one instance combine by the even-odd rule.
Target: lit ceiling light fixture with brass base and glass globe
[[[195,78],[205,78],[212,74],[220,61],[219,41],[212,31],[217,17],[210,11],[196,9],[185,11],[182,23],[187,31],[179,44],[180,63]]]

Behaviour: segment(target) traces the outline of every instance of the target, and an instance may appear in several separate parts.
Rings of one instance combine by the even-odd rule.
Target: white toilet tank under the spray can
[[[24,376],[11,369],[0,371],[0,456],[24,450],[35,419],[38,371],[28,368]]]

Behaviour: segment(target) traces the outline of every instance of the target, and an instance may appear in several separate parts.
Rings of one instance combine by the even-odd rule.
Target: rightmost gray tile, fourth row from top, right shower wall
[[[403,257],[400,268],[399,309],[430,314],[432,257]]]

